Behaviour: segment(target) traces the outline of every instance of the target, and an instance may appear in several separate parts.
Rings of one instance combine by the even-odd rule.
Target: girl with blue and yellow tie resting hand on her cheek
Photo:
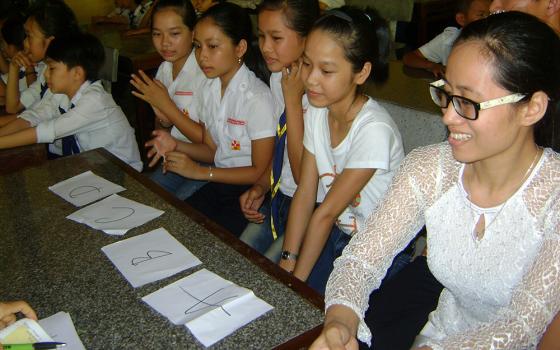
[[[303,153],[304,111],[309,102],[301,81],[301,55],[318,17],[317,0],[264,0],[258,7],[259,46],[272,72],[270,89],[278,126],[271,170],[239,199],[251,221],[240,239],[274,262],[280,259]],[[268,193],[272,202],[265,201]]]

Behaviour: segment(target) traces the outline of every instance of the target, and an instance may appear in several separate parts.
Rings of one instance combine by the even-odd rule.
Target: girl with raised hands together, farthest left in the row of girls
[[[138,89],[133,94],[154,109],[160,127],[171,128],[171,136],[184,142],[202,142],[203,128],[189,110],[201,93],[206,76],[192,49],[196,14],[189,0],[161,0],[152,12],[152,42],[164,59],[155,79],[142,72],[132,76]],[[155,164],[157,158],[150,163]],[[163,173],[158,167],[150,176],[179,199],[186,199],[206,182]]]

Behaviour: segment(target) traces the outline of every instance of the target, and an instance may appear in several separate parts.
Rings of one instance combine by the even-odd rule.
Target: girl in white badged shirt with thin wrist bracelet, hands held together
[[[251,42],[251,21],[241,7],[223,3],[205,12],[194,47],[204,74],[216,79],[207,81],[190,111],[205,125],[203,143],[165,133],[148,142],[165,155],[166,171],[210,181],[187,202],[237,236],[247,225],[238,198],[268,167],[276,127],[270,89],[248,68],[260,62]]]

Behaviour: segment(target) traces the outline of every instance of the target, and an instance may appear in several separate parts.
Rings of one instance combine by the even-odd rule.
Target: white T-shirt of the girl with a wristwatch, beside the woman
[[[371,98],[358,113],[346,137],[331,147],[328,109],[309,106],[303,145],[315,156],[319,184],[328,193],[344,169],[377,169],[352,203],[339,215],[337,226],[349,235],[364,227],[404,158],[401,134],[389,113]]]

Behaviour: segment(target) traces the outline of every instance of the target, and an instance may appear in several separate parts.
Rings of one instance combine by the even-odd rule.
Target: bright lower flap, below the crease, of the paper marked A
[[[214,309],[187,322],[185,326],[199,342],[208,347],[273,309],[252,292],[227,304],[226,308],[229,317],[222,310]]]

